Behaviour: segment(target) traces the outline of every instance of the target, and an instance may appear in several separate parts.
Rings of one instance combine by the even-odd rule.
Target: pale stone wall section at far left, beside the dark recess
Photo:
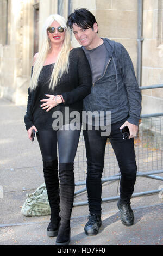
[[[30,79],[33,52],[32,2],[0,2],[0,96],[19,104],[27,100]]]

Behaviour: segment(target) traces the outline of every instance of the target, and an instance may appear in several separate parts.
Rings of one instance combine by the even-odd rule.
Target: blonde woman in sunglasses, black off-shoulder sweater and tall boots
[[[40,51],[33,59],[24,122],[29,139],[34,129],[39,142],[51,207],[47,235],[57,236],[56,245],[70,243],[73,162],[81,129],[81,120],[79,129],[74,129],[71,113],[77,111],[82,117],[83,99],[90,92],[91,70],[84,51],[71,47],[65,19],[58,14],[49,16],[42,29]],[[58,114],[63,118],[57,119]]]

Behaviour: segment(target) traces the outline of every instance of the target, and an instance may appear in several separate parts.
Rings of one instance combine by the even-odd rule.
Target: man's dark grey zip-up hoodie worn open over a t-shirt
[[[111,124],[128,117],[129,123],[138,125],[141,92],[133,63],[122,44],[102,39],[109,57],[101,78],[92,84],[91,94],[83,100],[84,111],[110,111]]]

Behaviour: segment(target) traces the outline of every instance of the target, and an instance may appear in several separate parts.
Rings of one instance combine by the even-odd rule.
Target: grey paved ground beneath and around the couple
[[[0,99],[0,245],[54,245],[55,238],[46,235],[49,216],[21,214],[26,194],[43,183],[40,150],[36,139],[32,143],[27,138],[23,123],[25,112],[26,106]],[[161,180],[138,177],[134,193],[158,190],[162,185]],[[105,183],[103,198],[116,196],[117,186],[118,181]],[[74,198],[75,203],[86,200],[86,192]],[[96,236],[84,233],[87,205],[75,206],[71,218],[71,248],[76,248],[75,245],[163,245],[163,198],[159,194],[133,197],[131,206],[135,224],[125,227],[120,220],[117,200],[103,203],[102,227]]]

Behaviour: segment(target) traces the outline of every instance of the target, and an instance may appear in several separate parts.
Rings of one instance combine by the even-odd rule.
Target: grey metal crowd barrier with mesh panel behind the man
[[[140,87],[141,90],[163,88],[163,84]],[[155,174],[163,173],[163,113],[141,115],[139,125],[139,135],[135,138],[135,155],[137,163],[137,176],[162,180],[163,177]],[[74,160],[75,185],[86,185],[86,151],[83,131],[81,132],[76,158]],[[110,142],[106,143],[105,165],[103,171],[102,184],[108,181],[120,180],[121,174],[118,163]],[[86,191],[86,187],[75,192],[75,195]],[[162,191],[150,190],[133,193],[132,197],[155,194]],[[102,198],[102,202],[118,200],[119,196]],[[86,205],[87,201],[75,202],[73,206]]]

